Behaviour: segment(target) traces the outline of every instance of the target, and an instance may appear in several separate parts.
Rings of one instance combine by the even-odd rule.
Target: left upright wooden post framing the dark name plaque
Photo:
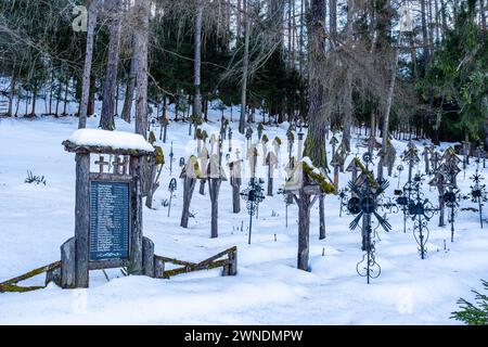
[[[76,203],[75,203],[75,286],[87,288],[88,275],[88,244],[90,228],[90,154],[77,153],[76,157]]]

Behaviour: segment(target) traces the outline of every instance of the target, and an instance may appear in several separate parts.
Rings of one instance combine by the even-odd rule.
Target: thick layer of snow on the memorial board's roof
[[[101,129],[79,129],[76,130],[66,141],[63,142],[67,150],[78,147],[110,149],[113,152],[141,152],[152,153],[154,147],[142,136],[124,131],[107,131]],[[99,152],[99,151],[98,151]]]

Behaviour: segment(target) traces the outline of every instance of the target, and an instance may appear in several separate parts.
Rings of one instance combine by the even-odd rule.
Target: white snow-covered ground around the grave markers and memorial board
[[[219,131],[218,114],[213,113],[213,121],[205,126],[207,131]],[[98,121],[89,119],[88,127],[97,128]],[[133,125],[119,119],[116,126],[117,130],[133,131]],[[59,260],[60,245],[74,234],[75,162],[61,142],[76,127],[74,117],[0,119],[0,282]],[[235,130],[236,124],[231,127]],[[285,126],[265,130],[271,141],[275,136],[286,139],[285,132]],[[234,141],[237,140],[244,139],[234,131]],[[167,159],[171,141],[176,158],[172,177],[178,178],[179,158],[194,154],[196,143],[188,136],[187,124],[171,123],[168,141],[163,144]],[[356,139],[352,152],[355,143]],[[399,141],[394,144],[398,154],[406,146]],[[286,144],[281,151],[285,155]],[[346,164],[351,158],[352,155]],[[280,167],[285,164],[281,158]],[[44,176],[47,184],[24,183],[27,170]],[[463,193],[468,192],[468,177],[474,170],[472,163],[465,177],[463,172],[459,175]],[[189,229],[182,229],[181,181],[168,218],[162,201],[169,198],[169,163],[163,172],[162,188],[155,194],[156,209],[144,208],[143,216],[144,234],[154,241],[156,254],[200,261],[236,245],[236,277],[222,278],[216,269],[155,280],[124,277],[118,269],[112,269],[107,271],[107,282],[101,271],[92,271],[89,290],[63,291],[51,284],[31,293],[0,294],[0,323],[451,324],[457,323],[449,317],[458,308],[458,298],[472,298],[470,290],[479,290],[479,279],[488,278],[488,228],[480,229],[478,215],[473,211],[459,213],[454,243],[450,242],[449,227],[438,228],[438,217],[433,218],[425,260],[420,259],[412,222],[408,222],[408,231],[403,233],[402,215],[389,216],[393,231],[380,230],[381,240],[376,240],[376,260],[383,272],[368,285],[356,272],[356,264],[363,254],[360,233],[348,229],[351,216],[338,217],[337,196],[325,200],[323,241],[319,241],[318,206],[313,207],[311,272],[304,272],[296,269],[297,209],[290,206],[285,228],[282,195],[265,200],[259,218],[253,223],[253,243],[248,245],[248,216],[245,209],[232,214],[231,187],[229,182],[222,183],[219,237],[210,239],[208,188],[205,196],[195,189],[191,205],[195,218],[190,219]],[[406,177],[403,171],[402,183]],[[341,174],[339,185],[345,187],[349,178],[349,174]],[[275,191],[282,182],[281,176]],[[242,188],[245,187],[244,183]],[[390,178],[389,196],[396,187],[397,178]],[[429,191],[426,185],[424,193],[437,202],[435,190]],[[462,207],[468,206],[476,207],[470,201],[462,203]],[[38,277],[22,284],[42,281],[43,277]]]

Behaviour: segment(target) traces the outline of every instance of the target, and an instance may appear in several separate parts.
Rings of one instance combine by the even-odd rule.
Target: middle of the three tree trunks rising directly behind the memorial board
[[[118,53],[120,44],[120,0],[110,0],[110,12],[113,14],[111,38],[108,42],[108,61],[106,64],[105,83],[103,86],[102,115],[100,128],[115,129],[115,92],[117,87]]]

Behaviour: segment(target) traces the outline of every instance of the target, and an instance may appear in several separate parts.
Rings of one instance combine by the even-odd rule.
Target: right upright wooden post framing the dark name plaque
[[[131,187],[131,227],[129,267],[133,274],[142,274],[142,180],[141,162],[143,157],[130,157]]]

